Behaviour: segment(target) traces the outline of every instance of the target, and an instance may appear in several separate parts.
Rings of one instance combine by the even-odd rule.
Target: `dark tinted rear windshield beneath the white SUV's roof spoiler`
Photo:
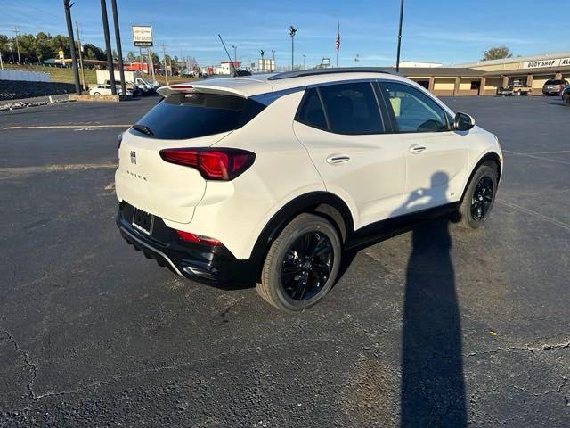
[[[185,140],[240,128],[264,109],[262,103],[235,95],[171,94],[135,125],[147,129],[141,134],[150,138]]]

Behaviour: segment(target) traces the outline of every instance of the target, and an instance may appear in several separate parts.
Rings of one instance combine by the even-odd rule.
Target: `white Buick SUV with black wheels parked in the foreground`
[[[257,284],[279,309],[330,291],[343,251],[434,212],[482,226],[502,154],[411,80],[304,70],[163,86],[119,136],[117,224],[176,274]]]

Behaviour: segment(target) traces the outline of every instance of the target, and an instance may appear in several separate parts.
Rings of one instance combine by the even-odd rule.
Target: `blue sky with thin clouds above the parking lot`
[[[259,50],[277,65],[291,62],[289,26],[295,37],[296,64],[314,66],[323,57],[339,66],[395,64],[400,0],[117,0],[123,54],[136,51],[132,25],[151,25],[154,50],[162,56],[195,57],[201,66],[227,59],[217,34],[237,45],[238,61],[256,62]],[[565,13],[532,19],[528,0],[405,0],[402,60],[457,64],[478,61],[485,49],[507,45],[514,55],[570,51]],[[107,9],[111,19],[110,0]],[[62,0],[0,0],[0,33],[44,31],[67,34]],[[75,0],[71,8],[83,43],[104,47],[100,0]],[[115,48],[112,21],[111,43]],[[354,59],[358,55],[359,62]]]

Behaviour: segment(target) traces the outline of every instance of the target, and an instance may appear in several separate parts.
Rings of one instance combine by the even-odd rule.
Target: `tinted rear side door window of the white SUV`
[[[384,132],[376,95],[370,82],[321,86],[330,132],[378,134]]]

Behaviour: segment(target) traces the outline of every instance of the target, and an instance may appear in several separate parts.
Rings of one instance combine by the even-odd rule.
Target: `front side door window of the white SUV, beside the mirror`
[[[449,130],[444,109],[418,89],[398,83],[382,83],[400,132]]]

